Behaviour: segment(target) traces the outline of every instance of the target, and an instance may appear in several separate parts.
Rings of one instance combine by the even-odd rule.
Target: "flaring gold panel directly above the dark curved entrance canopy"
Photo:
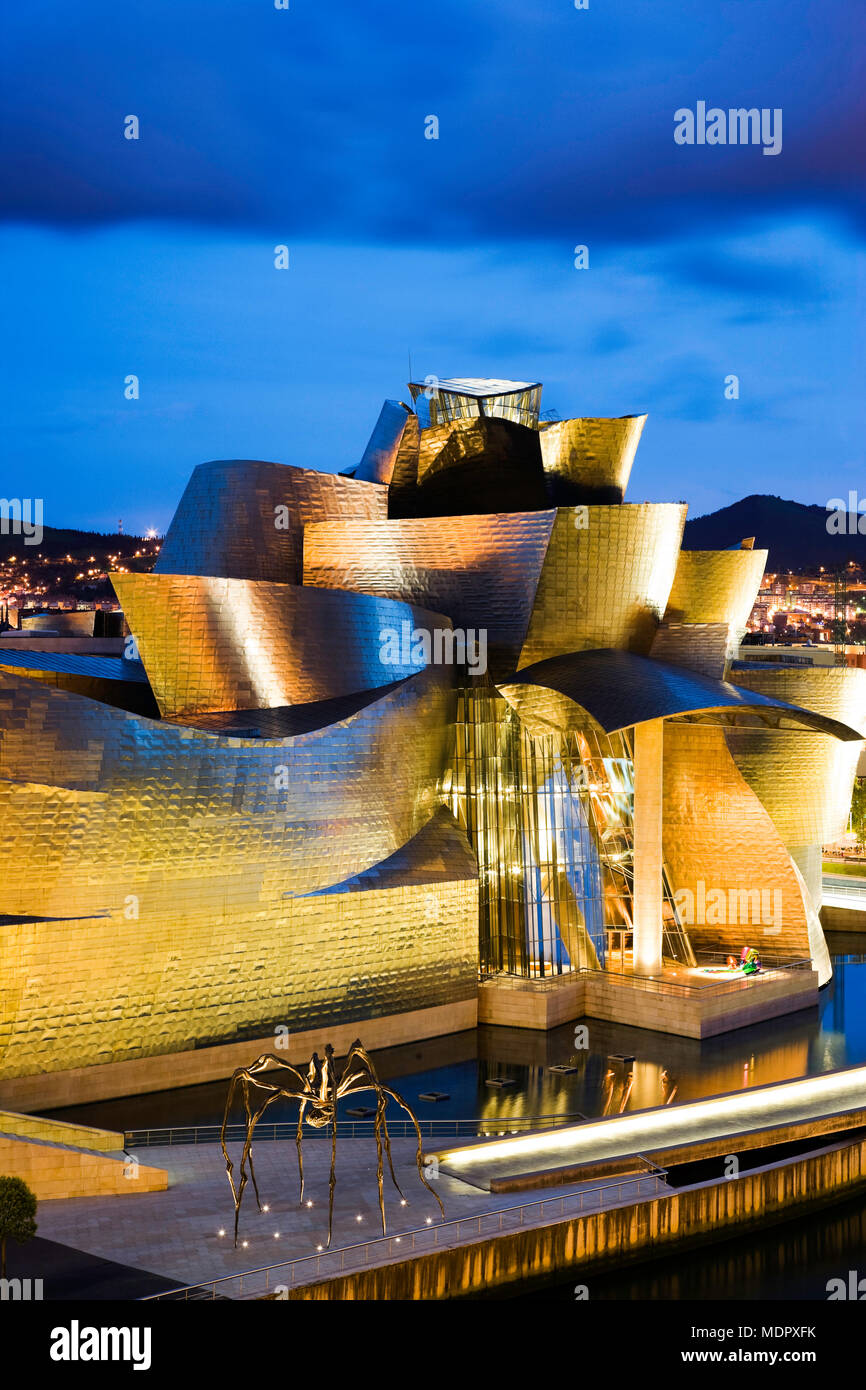
[[[684,524],[680,503],[560,507],[518,669],[591,646],[646,655]]]

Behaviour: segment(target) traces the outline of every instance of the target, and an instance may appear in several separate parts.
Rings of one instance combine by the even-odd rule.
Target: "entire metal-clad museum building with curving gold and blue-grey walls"
[[[466,1027],[480,963],[623,967],[649,849],[664,960],[749,940],[828,977],[815,845],[866,674],[721,678],[763,553],[681,555],[685,506],[621,502],[642,416],[439,386],[385,404],[354,477],[196,468],[156,571],[117,575],[149,684],[0,653],[0,1077]]]

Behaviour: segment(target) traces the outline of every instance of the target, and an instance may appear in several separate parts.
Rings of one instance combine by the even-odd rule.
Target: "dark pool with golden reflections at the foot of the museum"
[[[817,1006],[717,1038],[698,1041],[588,1019],[582,1024],[588,1045],[582,1047],[575,1045],[571,1023],[552,1033],[478,1027],[377,1051],[377,1066],[425,1119],[482,1118],[500,1127],[516,1118],[678,1105],[853,1066],[866,1062],[863,937],[830,940],[835,974]],[[420,1098],[431,1091],[448,1099]],[[53,1113],[117,1129],[209,1125],[222,1118],[224,1101],[225,1081],[217,1081]],[[272,1118],[291,1113],[278,1115],[274,1108]]]

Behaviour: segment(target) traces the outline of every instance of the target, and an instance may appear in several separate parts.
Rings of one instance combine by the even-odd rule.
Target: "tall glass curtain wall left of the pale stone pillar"
[[[634,856],[627,734],[532,738],[492,687],[467,685],[457,695],[450,808],[478,858],[482,973],[601,969],[609,940],[620,942],[621,967]],[[664,954],[694,963],[667,877]]]

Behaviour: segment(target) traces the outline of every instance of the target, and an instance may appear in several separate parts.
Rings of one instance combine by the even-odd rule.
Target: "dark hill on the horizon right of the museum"
[[[687,521],[683,548],[727,550],[753,535],[755,549],[770,552],[770,573],[815,573],[822,564],[833,571],[847,566],[849,560],[866,569],[866,535],[831,534],[827,531],[831,516],[826,507],[785,502],[784,498],[756,492],[720,512]],[[855,521],[851,514],[848,525],[853,527]]]

